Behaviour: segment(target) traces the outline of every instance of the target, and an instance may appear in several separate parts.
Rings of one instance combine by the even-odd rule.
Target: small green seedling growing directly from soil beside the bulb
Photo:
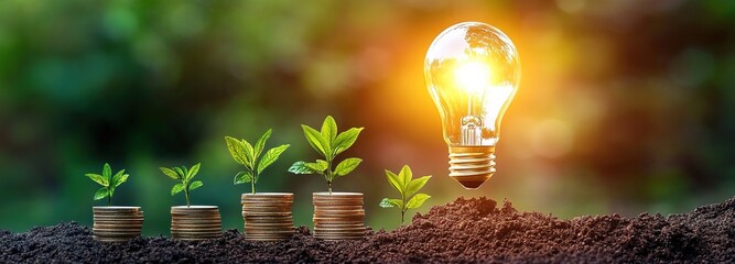
[[[426,194],[417,194],[423,186],[429,182],[431,175],[413,178],[413,173],[409,165],[403,166],[401,172],[396,175],[390,170],[386,169],[386,176],[388,176],[388,183],[393,186],[394,189],[401,195],[400,199],[383,198],[380,201],[380,207],[391,208],[397,207],[401,209],[401,224],[403,224],[406,219],[406,211],[408,209],[415,209],[421,207],[426,199],[431,196]]]

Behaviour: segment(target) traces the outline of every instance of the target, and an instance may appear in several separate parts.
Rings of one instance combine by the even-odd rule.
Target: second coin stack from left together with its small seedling
[[[179,240],[207,240],[221,237],[221,218],[217,206],[191,206],[190,193],[202,187],[202,180],[194,180],[201,163],[186,168],[160,167],[164,175],[181,183],[171,188],[171,196],[184,193],[186,206],[171,207],[171,237]]]

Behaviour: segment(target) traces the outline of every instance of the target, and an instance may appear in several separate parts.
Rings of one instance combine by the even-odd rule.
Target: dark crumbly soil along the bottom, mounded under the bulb
[[[682,215],[559,220],[510,202],[464,199],[365,240],[317,241],[309,229],[283,242],[249,242],[236,230],[204,242],[137,238],[100,243],[77,223],[0,231],[0,263],[723,263],[735,262],[735,198]]]

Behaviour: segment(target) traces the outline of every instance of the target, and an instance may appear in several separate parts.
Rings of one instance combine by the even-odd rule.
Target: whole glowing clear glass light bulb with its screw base
[[[478,188],[495,174],[500,120],[520,81],[516,46],[491,25],[458,23],[429,47],[424,75],[450,148],[450,176]]]

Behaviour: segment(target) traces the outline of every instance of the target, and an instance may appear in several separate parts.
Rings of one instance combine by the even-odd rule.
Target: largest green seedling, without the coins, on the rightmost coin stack
[[[302,124],[301,128],[304,130],[304,135],[309,144],[318,154],[324,156],[324,160],[316,160],[313,163],[296,162],[291,165],[289,172],[294,174],[321,174],[326,179],[327,188],[329,194],[332,194],[332,182],[334,182],[334,178],[352,173],[363,162],[360,158],[349,157],[337,164],[335,168],[332,168],[334,158],[355,144],[363,128],[352,128],[337,134],[337,123],[331,116],[324,119],[321,132],[305,124]]]

